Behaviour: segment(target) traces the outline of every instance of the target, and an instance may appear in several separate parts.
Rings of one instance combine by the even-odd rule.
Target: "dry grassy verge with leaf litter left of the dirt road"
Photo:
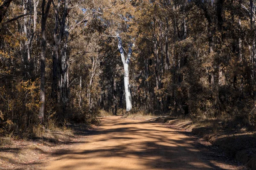
[[[83,143],[83,136],[90,134],[94,125],[69,125],[53,130],[35,130],[34,136],[20,139],[17,136],[0,137],[0,169],[34,170],[57,150],[68,150]]]

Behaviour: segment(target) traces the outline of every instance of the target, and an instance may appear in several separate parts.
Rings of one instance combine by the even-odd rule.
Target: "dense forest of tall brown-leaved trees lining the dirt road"
[[[0,0],[0,132],[102,111],[256,130],[255,0]]]

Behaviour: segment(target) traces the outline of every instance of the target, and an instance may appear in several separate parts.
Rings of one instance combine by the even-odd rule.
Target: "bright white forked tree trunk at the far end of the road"
[[[122,49],[122,40],[119,35],[117,36],[118,38],[118,49],[121,54],[121,59],[124,65],[124,71],[125,71],[125,101],[126,101],[126,111],[131,111],[131,92],[129,88],[129,63],[130,63],[130,58],[131,58],[131,47],[129,48],[128,56],[127,59],[125,60],[125,54],[124,50]]]

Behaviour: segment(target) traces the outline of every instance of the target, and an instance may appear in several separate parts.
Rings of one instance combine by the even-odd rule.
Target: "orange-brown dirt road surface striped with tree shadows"
[[[216,170],[236,169],[205,157],[186,133],[157,123],[102,119],[95,133],[74,150],[59,152],[47,170]]]

